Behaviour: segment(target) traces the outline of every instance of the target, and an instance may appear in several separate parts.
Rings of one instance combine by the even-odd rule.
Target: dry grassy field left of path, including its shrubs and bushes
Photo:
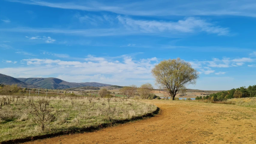
[[[80,131],[132,119],[154,112],[157,107],[133,99],[95,95],[27,95],[17,85],[5,85],[0,93],[0,142]],[[102,95],[101,95],[102,96]]]

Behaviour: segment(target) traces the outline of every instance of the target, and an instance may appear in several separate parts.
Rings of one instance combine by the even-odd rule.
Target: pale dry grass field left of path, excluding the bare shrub
[[[120,97],[111,98],[108,104],[106,98],[77,96],[59,99],[48,96],[47,99],[51,100],[49,107],[56,118],[42,131],[29,113],[33,103],[42,98],[41,96],[15,96],[14,99],[11,96],[0,96],[1,98],[9,98],[11,104],[5,104],[0,109],[0,142],[60,131],[79,131],[156,110],[156,106]]]

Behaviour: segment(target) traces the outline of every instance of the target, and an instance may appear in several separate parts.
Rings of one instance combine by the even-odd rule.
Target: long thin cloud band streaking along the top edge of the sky
[[[62,9],[75,9],[86,11],[109,11],[125,15],[137,16],[251,16],[256,17],[256,4],[253,0],[232,1],[232,0],[209,0],[209,1],[68,1],[48,2],[39,0],[9,0],[23,4],[33,4],[45,7]]]

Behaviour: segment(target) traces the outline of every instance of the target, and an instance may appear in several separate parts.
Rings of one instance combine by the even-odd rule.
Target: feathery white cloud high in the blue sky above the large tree
[[[229,35],[228,28],[215,26],[205,19],[195,17],[188,17],[178,22],[164,22],[155,20],[135,20],[127,17],[117,16],[120,23],[126,29],[133,31],[140,31],[143,33],[159,33],[159,32],[181,32],[181,33],[195,33],[197,31],[217,34]]]

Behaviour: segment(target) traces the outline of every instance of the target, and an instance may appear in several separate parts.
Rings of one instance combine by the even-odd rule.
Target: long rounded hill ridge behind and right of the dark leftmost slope
[[[61,79],[57,79],[54,77],[49,78],[17,78],[20,81],[30,83],[33,85],[38,85],[41,88],[47,89],[64,89],[64,88],[76,88],[76,87],[83,87],[83,86],[110,86],[109,84],[98,83],[98,82],[66,82]]]

